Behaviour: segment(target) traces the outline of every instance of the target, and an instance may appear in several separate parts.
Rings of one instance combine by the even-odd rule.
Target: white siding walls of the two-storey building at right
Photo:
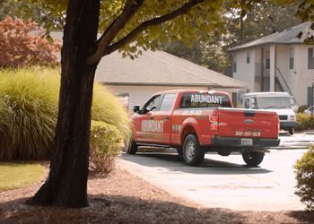
[[[294,67],[289,68],[290,47],[294,50]],[[283,74],[285,82],[292,91],[293,97],[299,106],[308,102],[308,87],[314,82],[314,69],[308,69],[308,48],[313,46],[289,45],[277,46],[276,65]],[[250,64],[247,64],[247,51],[250,50]],[[249,91],[260,91],[260,82],[255,78],[260,73],[261,48],[239,50],[234,55],[237,56],[237,72],[233,73],[233,78],[244,82]],[[266,55],[264,55],[266,58]],[[279,72],[276,71],[279,76]],[[284,87],[283,87],[284,88]]]

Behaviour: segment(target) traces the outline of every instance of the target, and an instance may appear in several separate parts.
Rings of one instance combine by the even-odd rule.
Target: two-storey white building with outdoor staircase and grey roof
[[[232,55],[232,77],[246,83],[246,91],[286,91],[295,103],[312,105],[314,22],[256,39],[228,51]]]

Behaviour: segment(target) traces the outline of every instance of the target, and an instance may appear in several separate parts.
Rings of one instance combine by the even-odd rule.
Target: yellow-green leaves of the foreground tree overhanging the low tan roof
[[[13,0],[4,2],[22,5]],[[22,15],[23,18],[28,18],[29,15],[43,27],[53,30],[56,29],[56,25],[52,23],[56,23],[57,20],[57,24],[65,21],[66,3],[66,0],[27,0],[23,1],[23,4],[31,4],[29,9],[16,10],[15,14]],[[129,7],[131,4],[132,8]],[[174,39],[192,46],[204,33],[211,33],[214,30],[218,34],[222,31],[223,12],[223,1],[101,1],[99,31],[104,33],[119,26],[105,54],[119,49],[124,52],[124,56],[133,57],[141,54],[143,49],[155,50]],[[44,15],[40,15],[41,13]],[[113,22],[116,26],[112,26]],[[118,25],[117,22],[121,23]]]

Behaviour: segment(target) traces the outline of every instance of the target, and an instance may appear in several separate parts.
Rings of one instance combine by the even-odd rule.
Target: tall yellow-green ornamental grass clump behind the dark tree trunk
[[[48,159],[57,125],[60,76],[57,69],[0,71],[0,159]],[[94,120],[129,131],[126,110],[95,84]]]

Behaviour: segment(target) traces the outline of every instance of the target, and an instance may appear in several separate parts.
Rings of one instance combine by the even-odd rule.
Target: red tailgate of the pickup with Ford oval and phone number
[[[278,138],[278,122],[275,112],[218,108],[217,135],[241,138]]]

